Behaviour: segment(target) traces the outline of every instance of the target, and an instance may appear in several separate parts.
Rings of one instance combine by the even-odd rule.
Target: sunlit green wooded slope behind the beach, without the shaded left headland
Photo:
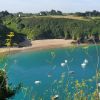
[[[74,39],[86,42],[100,40],[100,20],[72,20],[63,18],[18,18],[16,31],[25,34],[29,39]],[[10,26],[10,25],[8,25]]]

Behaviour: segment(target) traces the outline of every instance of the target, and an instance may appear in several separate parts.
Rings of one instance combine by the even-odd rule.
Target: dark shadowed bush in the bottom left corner
[[[7,100],[13,97],[19,91],[21,84],[17,87],[12,87],[8,84],[6,70],[0,69],[0,100]]]

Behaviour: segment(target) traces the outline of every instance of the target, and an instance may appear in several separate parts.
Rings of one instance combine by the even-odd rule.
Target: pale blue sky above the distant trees
[[[100,0],[0,0],[0,11],[38,13],[52,9],[65,13],[100,11]]]

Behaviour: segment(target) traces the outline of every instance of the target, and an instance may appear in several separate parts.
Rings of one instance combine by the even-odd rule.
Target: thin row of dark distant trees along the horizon
[[[97,10],[93,11],[85,11],[85,12],[75,12],[75,13],[63,13],[60,10],[54,10],[52,9],[51,11],[40,11],[39,13],[23,13],[23,12],[18,12],[18,13],[9,13],[8,11],[1,11],[0,12],[0,18],[5,17],[5,16],[34,16],[34,15],[41,15],[41,16],[49,16],[49,15],[75,15],[75,16],[83,16],[83,17],[96,17],[100,16],[100,12]]]

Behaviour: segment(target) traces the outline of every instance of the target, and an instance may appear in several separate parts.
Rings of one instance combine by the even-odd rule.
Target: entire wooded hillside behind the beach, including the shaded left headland
[[[100,19],[84,18],[84,20],[78,20],[36,15],[23,17],[21,14],[11,14],[7,11],[0,12],[1,46],[5,43],[7,34],[11,31],[15,33],[12,40],[15,44],[19,44],[26,39],[55,38],[74,39],[82,43],[99,42]]]

